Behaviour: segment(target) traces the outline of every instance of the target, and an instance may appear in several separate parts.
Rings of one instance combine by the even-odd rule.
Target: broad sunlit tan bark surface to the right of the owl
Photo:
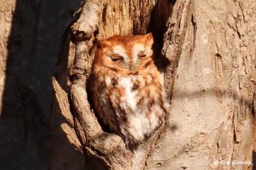
[[[254,7],[254,1],[184,1],[177,14],[174,7],[163,48],[175,63],[165,74],[166,86],[173,84],[170,116],[148,169],[252,168],[218,161],[252,159]]]

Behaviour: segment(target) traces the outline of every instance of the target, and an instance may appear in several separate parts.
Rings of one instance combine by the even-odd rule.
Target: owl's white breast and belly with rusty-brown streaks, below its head
[[[93,87],[95,109],[127,145],[138,144],[164,121],[163,76],[156,67],[138,75],[105,75]]]

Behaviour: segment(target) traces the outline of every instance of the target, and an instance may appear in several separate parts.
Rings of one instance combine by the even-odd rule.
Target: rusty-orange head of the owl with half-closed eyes
[[[94,59],[94,69],[118,72],[119,74],[139,74],[154,64],[152,33],[136,36],[112,36],[98,41]]]

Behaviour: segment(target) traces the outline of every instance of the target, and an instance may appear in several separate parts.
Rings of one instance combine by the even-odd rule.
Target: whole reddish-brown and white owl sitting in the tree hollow
[[[136,146],[164,121],[163,74],[154,64],[153,35],[112,36],[98,42],[90,91],[103,123]]]

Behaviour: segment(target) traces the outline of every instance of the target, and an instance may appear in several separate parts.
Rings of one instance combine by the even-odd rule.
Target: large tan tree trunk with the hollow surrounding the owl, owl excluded
[[[253,0],[83,3],[63,34],[52,79],[50,168],[252,169],[232,161],[252,161],[255,7]],[[96,39],[148,31],[169,63],[170,108],[163,126],[133,153],[102,130],[87,80]]]

